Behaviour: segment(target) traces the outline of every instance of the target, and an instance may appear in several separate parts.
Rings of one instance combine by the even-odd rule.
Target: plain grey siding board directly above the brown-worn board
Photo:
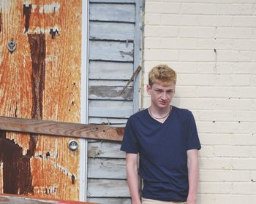
[[[89,79],[129,80],[133,73],[133,63],[90,61]]]

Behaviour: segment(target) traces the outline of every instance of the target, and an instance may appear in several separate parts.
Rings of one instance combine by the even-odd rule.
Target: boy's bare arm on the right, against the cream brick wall
[[[199,174],[197,149],[190,149],[187,151],[187,168],[189,171],[189,195],[187,197],[187,204],[196,204]]]

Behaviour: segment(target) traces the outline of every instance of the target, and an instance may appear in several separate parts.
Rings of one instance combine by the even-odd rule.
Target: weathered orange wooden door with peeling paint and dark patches
[[[81,1],[3,1],[0,26],[1,116],[80,122]],[[1,132],[10,146],[0,149],[4,192],[78,200],[79,151],[69,139]]]

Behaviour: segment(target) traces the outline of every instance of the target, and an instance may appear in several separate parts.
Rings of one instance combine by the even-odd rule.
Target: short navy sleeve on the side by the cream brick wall
[[[195,118],[191,111],[187,117],[187,150],[189,149],[201,149]]]

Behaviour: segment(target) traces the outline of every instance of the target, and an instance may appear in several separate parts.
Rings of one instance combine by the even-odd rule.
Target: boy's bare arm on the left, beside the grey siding
[[[138,154],[127,153],[127,182],[132,204],[140,204],[138,185]]]

